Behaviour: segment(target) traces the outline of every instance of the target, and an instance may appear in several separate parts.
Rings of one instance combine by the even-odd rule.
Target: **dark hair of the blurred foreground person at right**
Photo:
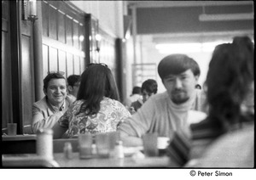
[[[241,103],[254,80],[254,48],[248,37],[218,45],[212,53],[207,73],[209,120],[223,131],[241,121]]]

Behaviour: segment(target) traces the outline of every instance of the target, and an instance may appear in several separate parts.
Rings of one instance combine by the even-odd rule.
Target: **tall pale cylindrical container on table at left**
[[[39,129],[37,132],[38,156],[53,159],[53,131],[51,129]]]

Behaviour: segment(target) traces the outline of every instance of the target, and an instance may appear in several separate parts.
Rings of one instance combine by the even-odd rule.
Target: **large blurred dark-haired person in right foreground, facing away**
[[[253,167],[254,47],[248,37],[218,45],[207,73],[207,119],[191,125],[194,148],[187,166]],[[198,142],[207,143],[198,143]]]

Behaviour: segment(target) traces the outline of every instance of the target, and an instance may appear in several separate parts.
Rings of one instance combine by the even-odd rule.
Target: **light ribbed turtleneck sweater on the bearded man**
[[[155,94],[148,98],[137,113],[120,125],[119,131],[137,138],[142,138],[148,132],[157,132],[159,137],[169,138],[172,138],[173,132],[183,132],[190,136],[188,112],[198,107],[199,101],[196,98],[195,92],[187,102],[177,105],[167,92]]]

